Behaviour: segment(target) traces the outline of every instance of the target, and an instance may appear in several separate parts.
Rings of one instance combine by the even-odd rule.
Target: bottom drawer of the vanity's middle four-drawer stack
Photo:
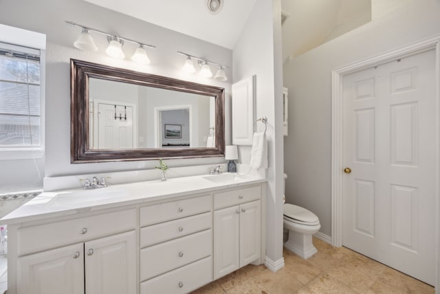
[[[141,294],[189,293],[212,281],[212,258],[203,258],[140,284]]]

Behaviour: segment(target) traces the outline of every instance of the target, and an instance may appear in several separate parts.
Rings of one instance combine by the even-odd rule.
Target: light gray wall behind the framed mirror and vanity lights
[[[179,56],[176,51],[188,52],[232,68],[231,50],[81,0],[0,1],[0,20],[5,25],[47,34],[45,176],[151,169],[157,164],[153,161],[81,165],[70,163],[69,59],[71,58],[225,87],[226,105],[230,105],[232,73],[227,72],[230,78],[227,82],[186,75],[181,71],[184,57]],[[65,24],[65,20],[156,45],[157,50],[148,50],[151,65],[136,65],[129,61],[129,57],[124,61],[111,59],[104,53],[107,41],[103,36],[96,34],[94,39],[99,48],[98,52],[77,50],[73,42],[80,30]],[[135,48],[135,45],[126,43],[124,45],[126,56],[130,56]],[[228,116],[229,114],[226,122]],[[229,123],[226,123],[226,143],[230,143]],[[217,162],[223,162],[223,158],[176,159],[168,160],[167,163],[173,167]],[[14,165],[11,165],[11,168],[13,169]]]

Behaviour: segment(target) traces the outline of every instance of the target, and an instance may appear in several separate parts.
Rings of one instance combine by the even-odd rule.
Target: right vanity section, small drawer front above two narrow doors
[[[214,209],[216,280],[261,261],[261,186],[215,193]]]

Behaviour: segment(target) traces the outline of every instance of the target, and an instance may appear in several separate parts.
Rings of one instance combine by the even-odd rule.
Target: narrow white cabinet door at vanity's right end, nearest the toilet
[[[240,267],[261,258],[261,201],[240,205]]]

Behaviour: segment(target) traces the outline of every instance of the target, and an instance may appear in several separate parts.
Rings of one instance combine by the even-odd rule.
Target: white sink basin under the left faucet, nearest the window
[[[72,192],[61,192],[54,196],[50,200],[50,206],[65,206],[65,205],[75,205],[75,204],[91,204],[100,202],[102,200],[111,200],[116,198],[122,198],[126,196],[125,189],[89,189],[89,190],[79,190]]]

